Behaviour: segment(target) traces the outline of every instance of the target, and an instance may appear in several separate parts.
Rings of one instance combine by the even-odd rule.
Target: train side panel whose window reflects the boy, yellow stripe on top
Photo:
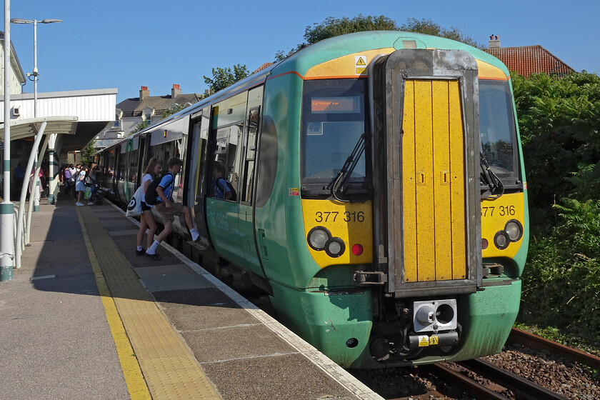
[[[246,121],[248,92],[236,94],[211,109],[209,130],[209,190],[206,197],[206,224],[214,248],[232,263],[247,269],[239,231],[240,140]],[[229,198],[224,189],[229,181],[236,194]],[[221,189],[217,189],[221,186]]]

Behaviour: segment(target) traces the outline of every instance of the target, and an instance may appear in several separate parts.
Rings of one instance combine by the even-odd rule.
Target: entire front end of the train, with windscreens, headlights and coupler
[[[304,321],[287,318],[341,366],[494,354],[516,319],[526,252],[522,161],[506,74],[461,50],[401,49],[366,61],[368,90],[366,79],[304,81],[302,212],[307,248],[321,271],[306,291],[274,284],[276,297],[311,310]],[[315,69],[309,74],[318,75]],[[482,73],[491,79],[484,82]],[[503,82],[499,90],[496,81]],[[499,100],[480,104],[482,84]],[[484,146],[482,111],[489,113],[482,117]],[[500,124],[491,126],[494,119]],[[313,151],[328,149],[317,145],[327,134],[354,151]],[[481,154],[495,157],[500,196],[480,184]],[[503,157],[509,161],[497,160]],[[322,169],[329,161],[333,171]],[[494,219],[482,214],[491,207]]]

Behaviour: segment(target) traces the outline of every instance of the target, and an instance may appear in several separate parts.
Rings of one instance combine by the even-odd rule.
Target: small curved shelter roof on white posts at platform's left
[[[11,121],[11,141],[36,136],[44,121],[46,121],[44,134],[72,135],[77,129],[77,120],[76,116],[43,116]],[[4,124],[0,124],[0,141],[4,141]]]

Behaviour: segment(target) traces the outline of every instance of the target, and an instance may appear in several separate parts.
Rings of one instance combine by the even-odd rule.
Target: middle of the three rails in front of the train
[[[560,394],[554,393],[543,386],[534,384],[519,375],[513,374],[512,372],[506,371],[506,369],[495,366],[488,361],[482,359],[473,359],[466,361],[459,361],[458,363],[465,368],[474,371],[476,374],[484,376],[497,384],[504,386],[506,389],[515,391],[521,394],[520,399],[531,399],[531,400],[567,400],[567,397],[561,396]]]

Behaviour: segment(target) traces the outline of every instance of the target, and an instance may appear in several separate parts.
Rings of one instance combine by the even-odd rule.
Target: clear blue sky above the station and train
[[[539,44],[576,71],[600,74],[599,0],[11,1],[11,18],[64,21],[38,24],[38,91],[117,88],[117,102],[139,96],[140,86],[151,96],[170,94],[172,84],[202,93],[212,67],[254,71],[304,41],[307,25],[358,14],[399,25],[431,19],[483,44],[491,34],[503,47]],[[11,40],[32,71],[33,26],[11,24]]]

